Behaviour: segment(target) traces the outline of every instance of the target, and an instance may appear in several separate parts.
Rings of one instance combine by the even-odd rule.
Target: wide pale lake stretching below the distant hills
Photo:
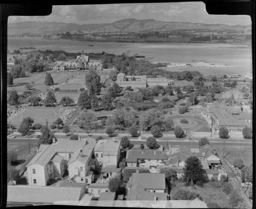
[[[94,45],[94,46],[87,46]],[[203,43],[115,43],[82,42],[71,40],[41,40],[40,38],[8,38],[7,47],[11,52],[20,47],[35,47],[35,50],[64,50],[68,52],[113,53],[121,55],[142,55],[153,62],[188,63],[192,60],[213,64],[240,66],[236,68],[180,67],[168,70],[198,70],[204,74],[252,74],[252,49],[243,45]],[[30,49],[31,50],[31,49]],[[30,51],[23,50],[23,51]]]

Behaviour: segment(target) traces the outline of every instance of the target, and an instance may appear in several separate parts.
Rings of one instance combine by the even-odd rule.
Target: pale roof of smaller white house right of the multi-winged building
[[[120,150],[120,140],[103,139],[98,141],[94,148],[94,152],[103,152],[103,155],[118,155]]]

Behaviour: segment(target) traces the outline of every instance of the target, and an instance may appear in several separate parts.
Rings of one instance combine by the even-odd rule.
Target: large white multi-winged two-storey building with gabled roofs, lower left
[[[27,164],[30,186],[47,186],[51,179],[61,178],[65,171],[71,182],[91,182],[93,148],[95,140],[59,140],[54,144],[41,144],[36,156]],[[89,173],[89,177],[87,177]]]

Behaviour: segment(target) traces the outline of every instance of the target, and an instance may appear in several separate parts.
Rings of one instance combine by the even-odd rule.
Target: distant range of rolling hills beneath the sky
[[[248,32],[251,30],[251,25],[223,25],[223,24],[205,24],[205,23],[190,23],[190,22],[164,22],[153,19],[136,20],[133,18],[118,20],[113,23],[102,24],[83,24],[76,23],[56,23],[56,22],[20,22],[8,24],[8,35],[13,34],[56,34],[63,32],[76,32],[83,33],[98,32],[98,33],[111,33],[111,32],[147,32],[147,31],[160,31],[170,32],[171,30],[235,30]]]

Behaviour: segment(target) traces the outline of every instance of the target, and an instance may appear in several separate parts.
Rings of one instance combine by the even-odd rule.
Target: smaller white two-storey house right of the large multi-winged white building
[[[99,140],[94,148],[94,153],[97,165],[117,166],[120,158],[120,140],[115,138]]]

